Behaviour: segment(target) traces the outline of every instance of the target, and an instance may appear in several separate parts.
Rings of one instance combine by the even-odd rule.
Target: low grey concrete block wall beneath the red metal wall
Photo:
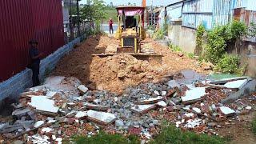
[[[78,44],[83,38],[76,38],[74,41],[60,47],[53,54],[42,59],[40,63],[40,75],[42,80],[45,77],[47,70],[53,70],[58,60],[73,49],[75,44]],[[22,93],[26,88],[32,86],[32,70],[27,69],[14,75],[14,77],[0,83],[0,106],[5,98],[17,98],[18,94]]]

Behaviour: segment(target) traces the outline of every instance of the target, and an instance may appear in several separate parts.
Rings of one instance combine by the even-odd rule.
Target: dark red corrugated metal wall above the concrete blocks
[[[44,57],[64,45],[61,0],[0,0],[0,82],[24,70],[30,39]]]

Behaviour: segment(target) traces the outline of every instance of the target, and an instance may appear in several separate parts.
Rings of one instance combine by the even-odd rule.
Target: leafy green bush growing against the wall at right
[[[200,34],[200,32],[198,32]],[[207,32],[206,60],[217,65],[215,70],[223,73],[241,73],[239,58],[226,54],[226,46],[246,34],[246,25],[234,21],[225,26],[216,26]],[[199,43],[200,44],[200,43]]]

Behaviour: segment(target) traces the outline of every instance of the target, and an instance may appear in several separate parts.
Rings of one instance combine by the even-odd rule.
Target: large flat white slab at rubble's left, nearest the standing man
[[[58,113],[58,107],[54,106],[54,101],[46,97],[32,97],[31,102],[28,103],[30,106],[40,110],[42,112]]]

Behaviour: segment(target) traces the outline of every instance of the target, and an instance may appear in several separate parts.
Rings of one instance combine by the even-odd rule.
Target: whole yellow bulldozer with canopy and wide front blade
[[[118,30],[115,38],[119,43],[115,54],[126,53],[141,60],[162,62],[161,54],[142,52],[142,41],[146,38],[144,27],[144,6],[118,6]],[[106,57],[114,54],[94,54]]]

